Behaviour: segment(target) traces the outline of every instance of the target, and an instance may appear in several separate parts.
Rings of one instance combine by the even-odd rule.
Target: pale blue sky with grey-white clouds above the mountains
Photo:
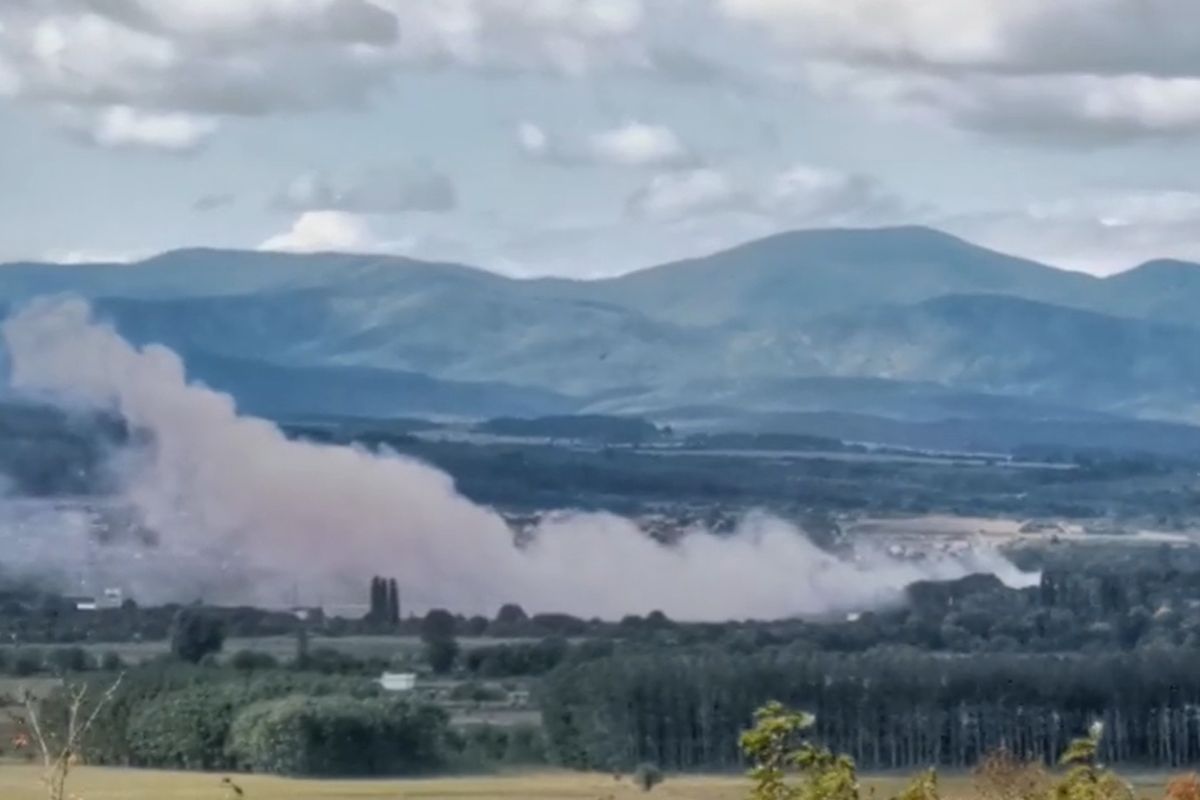
[[[0,259],[1200,259],[1195,0],[0,0]]]

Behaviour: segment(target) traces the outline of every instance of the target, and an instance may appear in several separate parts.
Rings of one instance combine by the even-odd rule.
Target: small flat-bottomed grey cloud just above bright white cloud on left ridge
[[[404,213],[452,211],[458,203],[454,182],[428,167],[373,167],[355,178],[336,180],[322,173],[289,182],[275,205],[288,211]]]

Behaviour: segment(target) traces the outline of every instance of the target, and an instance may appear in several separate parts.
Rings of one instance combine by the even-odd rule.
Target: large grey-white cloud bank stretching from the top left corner
[[[648,53],[642,0],[0,4],[0,95],[131,146],[186,138],[167,115],[362,107],[406,70],[581,74],[646,67]],[[175,131],[101,136],[114,114]]]

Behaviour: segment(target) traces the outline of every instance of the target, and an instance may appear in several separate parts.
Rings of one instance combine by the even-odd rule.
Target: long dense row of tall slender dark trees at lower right
[[[625,655],[560,668],[541,692],[552,757],[587,769],[744,766],[738,734],[772,698],[865,769],[966,768],[997,748],[1050,763],[1094,721],[1106,762],[1200,763],[1200,670],[1183,649]]]

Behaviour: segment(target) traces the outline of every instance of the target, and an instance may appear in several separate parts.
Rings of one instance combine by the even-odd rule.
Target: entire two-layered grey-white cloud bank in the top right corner
[[[1190,0],[718,0],[818,89],[1027,139],[1200,133]]]

